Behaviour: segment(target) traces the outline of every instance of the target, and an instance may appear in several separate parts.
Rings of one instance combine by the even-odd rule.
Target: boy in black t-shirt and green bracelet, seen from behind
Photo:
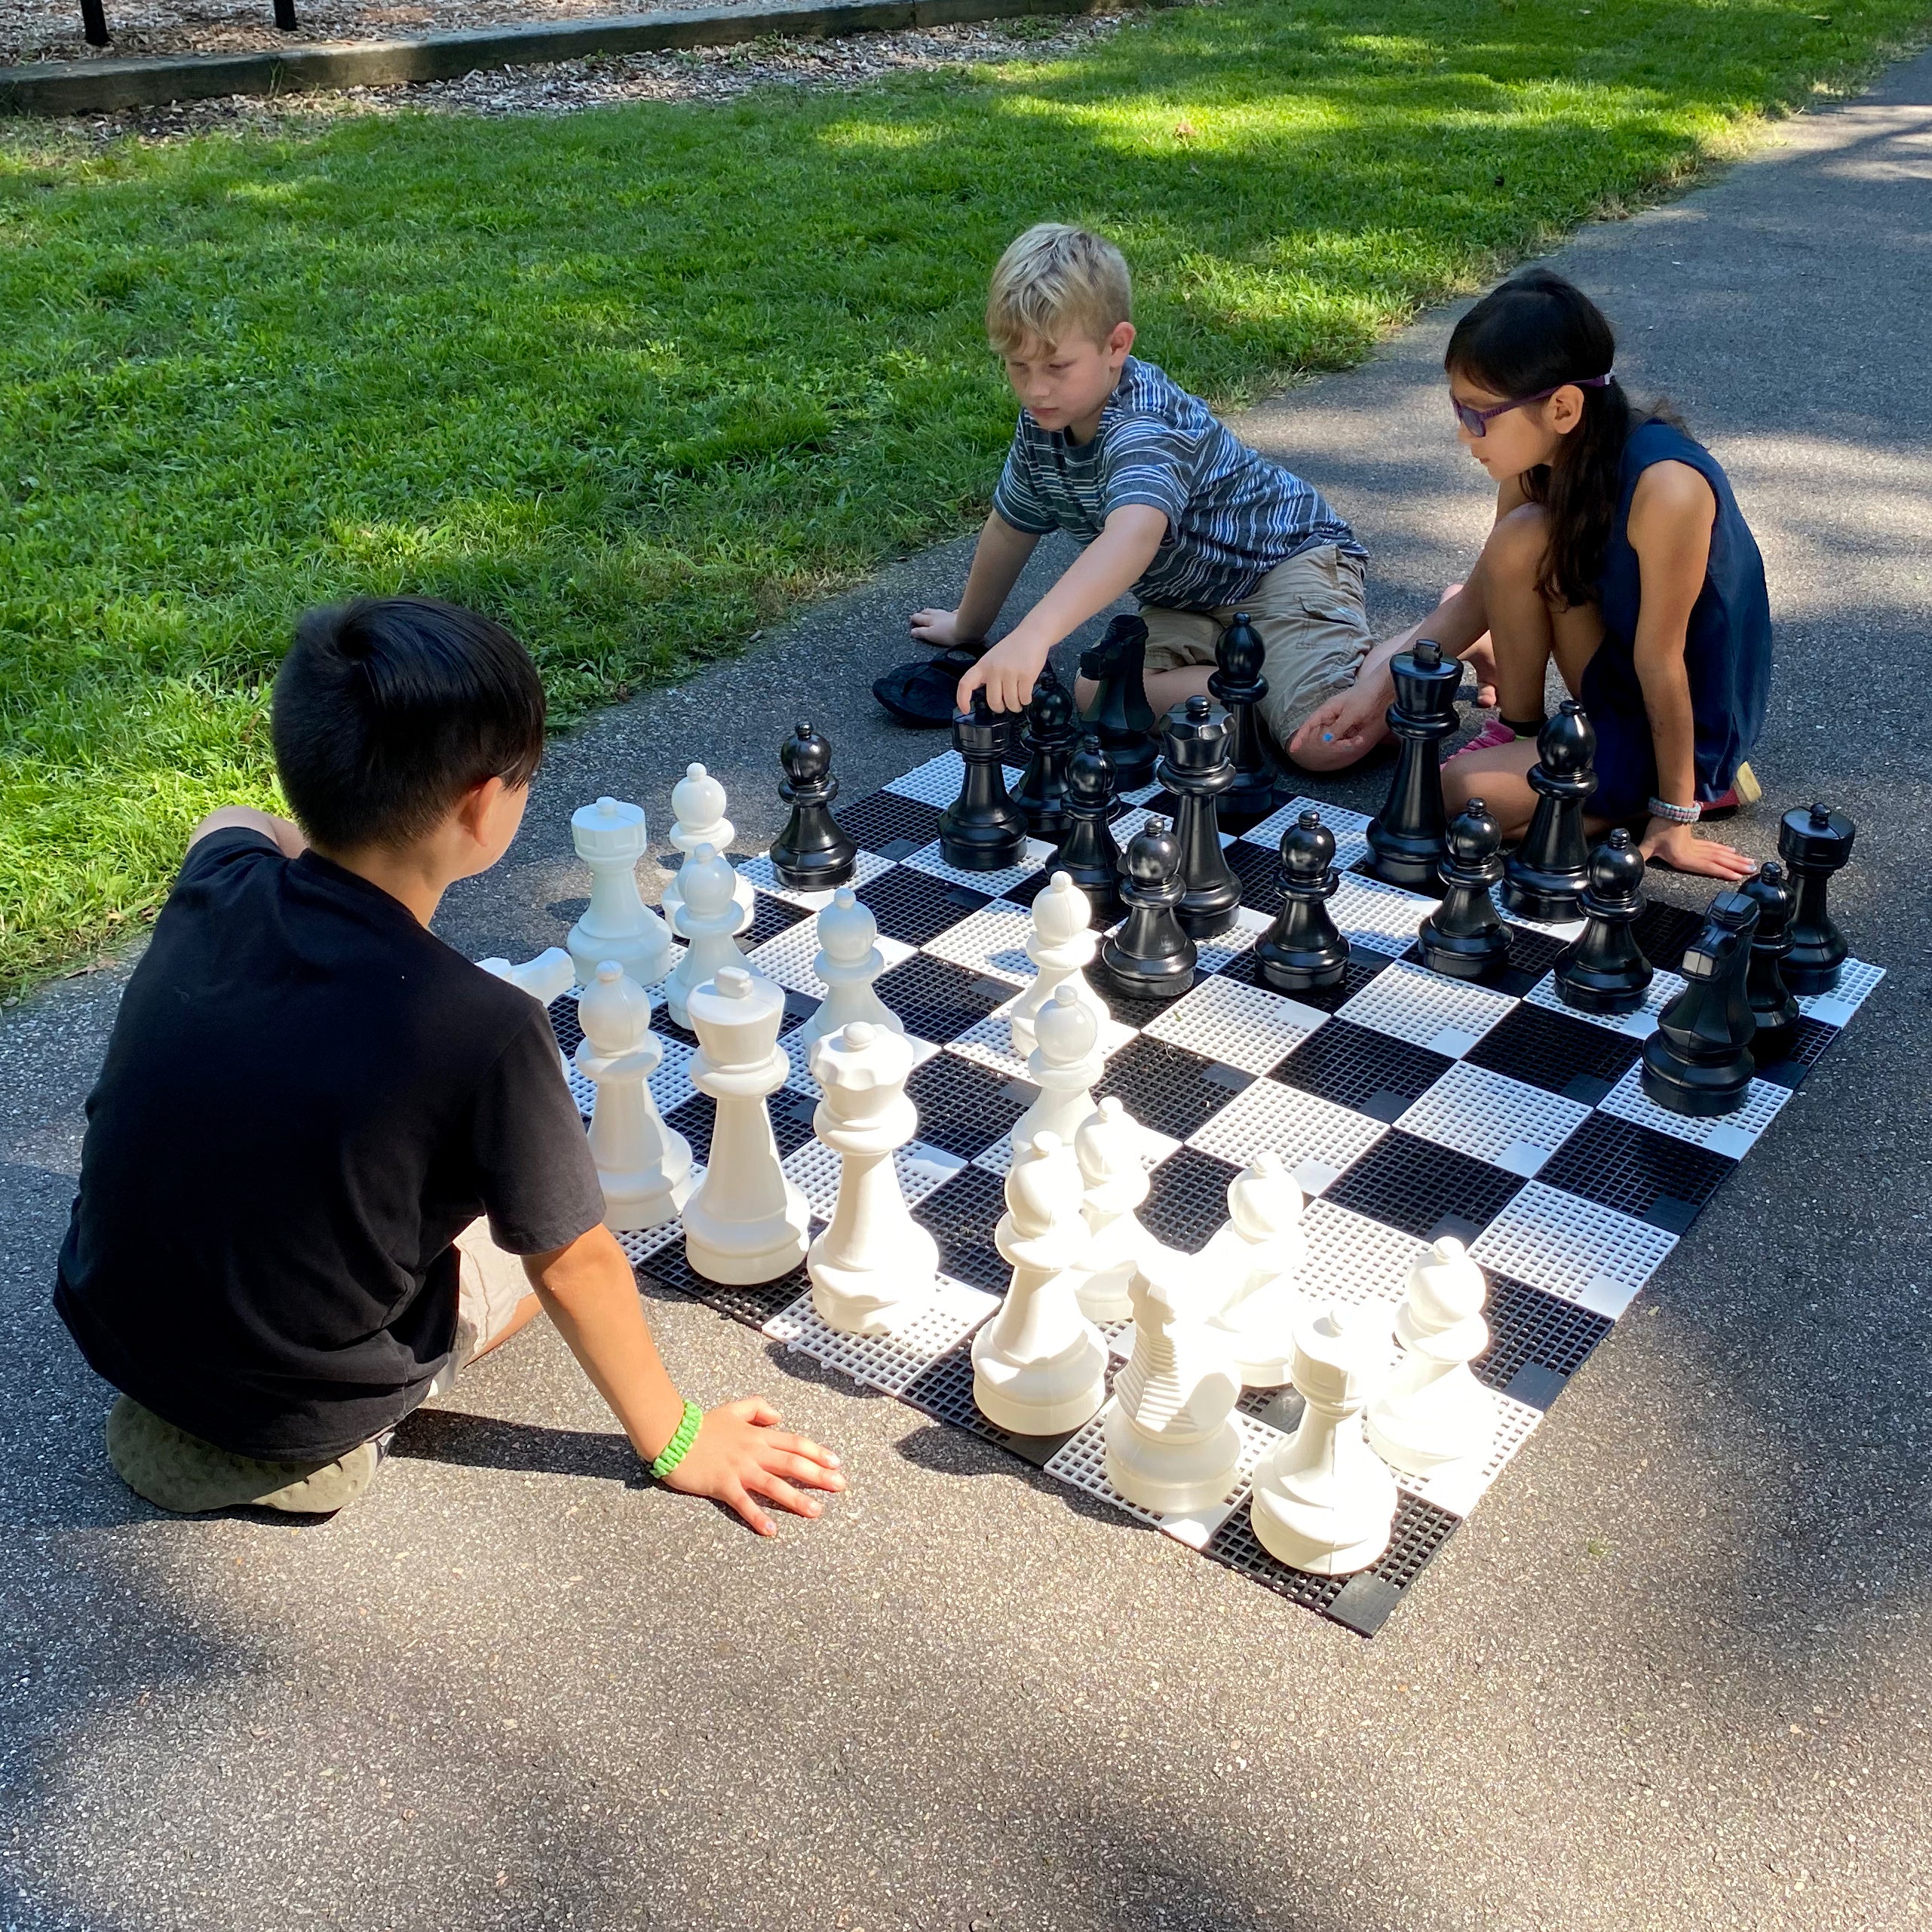
[[[804,1517],[838,1459],[659,1362],[549,1016],[429,931],[502,858],[543,686],[487,618],[311,611],[274,686],[296,815],[195,827],[87,1101],[54,1306],[164,1509],[328,1511],[394,1426],[539,1310],[676,1490]],[[487,1219],[487,1229],[485,1229]]]

